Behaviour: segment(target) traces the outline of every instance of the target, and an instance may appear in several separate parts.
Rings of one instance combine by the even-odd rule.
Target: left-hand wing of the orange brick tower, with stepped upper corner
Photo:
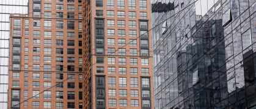
[[[28,5],[10,16],[9,108],[83,108],[82,0]]]

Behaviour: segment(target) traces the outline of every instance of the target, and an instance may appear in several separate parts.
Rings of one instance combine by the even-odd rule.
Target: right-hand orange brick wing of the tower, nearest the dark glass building
[[[148,0],[87,1],[92,108],[153,108]],[[89,31],[87,31],[89,32]]]

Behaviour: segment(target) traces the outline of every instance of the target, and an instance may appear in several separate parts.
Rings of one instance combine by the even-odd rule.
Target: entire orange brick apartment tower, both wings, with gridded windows
[[[30,0],[10,16],[9,108],[153,108],[148,0]]]

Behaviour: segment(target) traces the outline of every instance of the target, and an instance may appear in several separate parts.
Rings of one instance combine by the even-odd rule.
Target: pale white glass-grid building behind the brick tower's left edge
[[[0,106],[2,109],[7,108],[8,105],[10,13],[27,14],[27,0],[0,1]]]

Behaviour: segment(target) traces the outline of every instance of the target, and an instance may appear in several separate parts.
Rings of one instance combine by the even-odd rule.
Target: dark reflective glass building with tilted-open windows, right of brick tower
[[[155,108],[255,108],[255,0],[152,1]]]

